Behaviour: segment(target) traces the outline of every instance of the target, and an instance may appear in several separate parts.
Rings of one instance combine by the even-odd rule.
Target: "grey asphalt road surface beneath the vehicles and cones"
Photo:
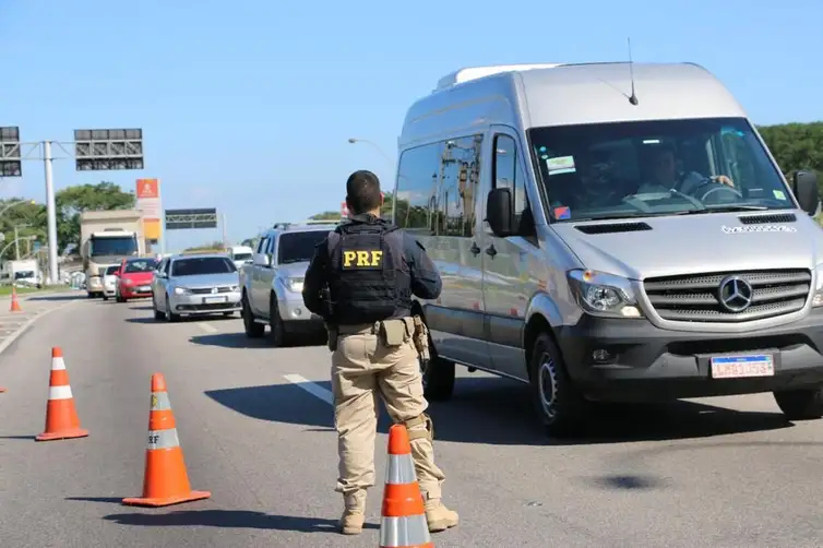
[[[55,345],[91,436],[36,443]],[[120,504],[141,493],[155,371],[192,487],[210,500]],[[166,324],[145,302],[86,299],[48,312],[0,355],[0,544],[377,546],[382,486],[361,536],[334,531],[327,371],[324,346],[272,349],[247,341],[239,320]],[[823,422],[785,422],[771,395],[616,407],[588,441],[561,443],[534,427],[525,386],[465,376],[431,409],[446,502],[462,519],[436,546],[823,545]]]

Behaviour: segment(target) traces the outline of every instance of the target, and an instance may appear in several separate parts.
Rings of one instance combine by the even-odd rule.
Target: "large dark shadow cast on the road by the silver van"
[[[330,382],[315,383],[331,391]],[[215,402],[248,417],[333,428],[330,406],[296,384],[214,390]],[[528,386],[494,378],[458,380],[450,402],[431,403],[438,440],[498,445],[582,445],[627,441],[697,439],[791,427],[782,414],[744,413],[693,402],[609,405],[595,413],[574,439],[552,439],[537,425]],[[381,414],[378,428],[391,425]],[[617,479],[616,481],[620,481]]]

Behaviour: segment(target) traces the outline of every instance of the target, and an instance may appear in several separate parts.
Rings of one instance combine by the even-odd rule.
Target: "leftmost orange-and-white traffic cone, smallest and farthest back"
[[[59,346],[51,348],[51,377],[49,378],[49,400],[46,404],[46,431],[35,438],[37,441],[85,438],[88,430],[80,427],[74,397],[69,385],[63,352]]]

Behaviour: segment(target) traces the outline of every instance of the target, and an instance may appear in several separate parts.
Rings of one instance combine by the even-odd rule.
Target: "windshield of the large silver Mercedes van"
[[[528,139],[554,222],[795,207],[742,118],[537,128]]]

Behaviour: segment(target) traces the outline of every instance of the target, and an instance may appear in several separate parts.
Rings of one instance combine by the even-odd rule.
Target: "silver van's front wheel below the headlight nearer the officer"
[[[549,436],[574,434],[586,419],[589,404],[572,384],[554,341],[542,333],[529,360],[535,410]]]

